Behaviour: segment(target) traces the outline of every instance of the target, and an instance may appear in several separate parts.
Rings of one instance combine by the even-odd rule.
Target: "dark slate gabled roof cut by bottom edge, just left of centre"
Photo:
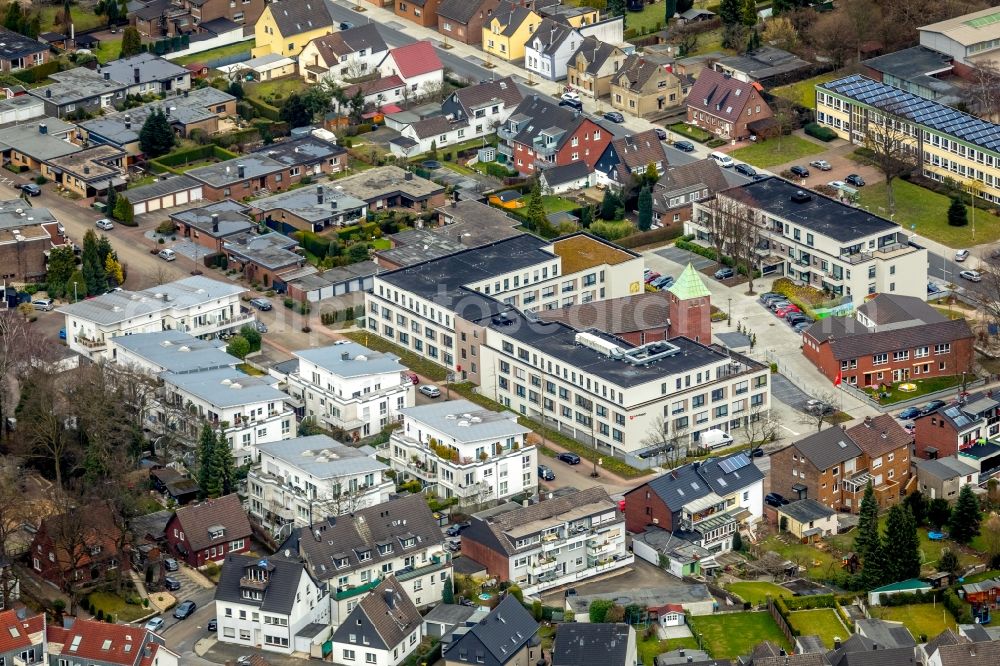
[[[442,655],[446,661],[504,666],[529,642],[538,623],[513,596],[504,597],[485,620],[456,638]]]

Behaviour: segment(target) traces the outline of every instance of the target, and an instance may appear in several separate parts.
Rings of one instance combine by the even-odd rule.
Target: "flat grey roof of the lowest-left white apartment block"
[[[262,453],[298,467],[318,479],[366,474],[388,469],[368,446],[347,446],[327,435],[310,435],[258,444]]]

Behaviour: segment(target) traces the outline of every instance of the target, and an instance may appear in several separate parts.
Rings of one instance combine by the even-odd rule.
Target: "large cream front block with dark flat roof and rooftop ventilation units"
[[[660,418],[679,442],[735,437],[771,404],[766,366],[683,337],[635,347],[514,312],[490,323],[480,359],[482,395],[610,452],[644,449]]]

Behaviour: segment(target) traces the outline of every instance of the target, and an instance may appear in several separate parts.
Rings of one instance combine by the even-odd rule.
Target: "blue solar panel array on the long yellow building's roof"
[[[1000,125],[857,74],[820,85],[831,92],[1000,152]]]

